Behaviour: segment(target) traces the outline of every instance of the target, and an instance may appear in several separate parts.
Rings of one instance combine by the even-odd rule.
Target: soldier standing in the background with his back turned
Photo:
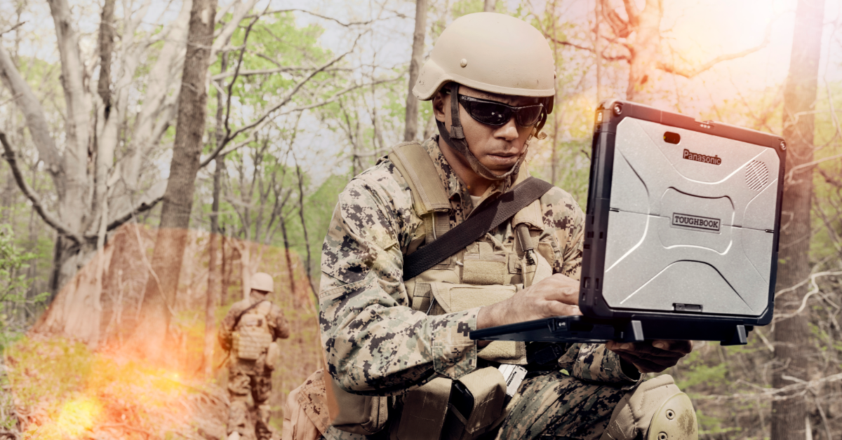
[[[274,283],[269,273],[252,275],[248,299],[237,301],[228,310],[219,329],[219,342],[230,353],[228,361],[228,440],[239,438],[267,440],[269,393],[272,370],[278,358],[277,339],[290,337],[290,325],[277,305],[267,298]],[[253,406],[248,405],[248,395]],[[253,423],[254,430],[248,427]]]

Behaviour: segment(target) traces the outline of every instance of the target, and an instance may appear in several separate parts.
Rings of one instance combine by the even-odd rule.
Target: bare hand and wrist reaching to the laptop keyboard
[[[578,281],[556,273],[514,294],[509,300],[482,307],[477,315],[477,329],[551,316],[582,315],[578,310],[578,294]]]

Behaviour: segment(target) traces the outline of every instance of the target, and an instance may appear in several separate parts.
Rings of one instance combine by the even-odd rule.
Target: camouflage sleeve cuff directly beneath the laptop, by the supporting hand
[[[620,356],[605,348],[605,344],[573,344],[558,359],[561,368],[577,379],[589,382],[637,385],[645,374],[629,377],[623,372]]]

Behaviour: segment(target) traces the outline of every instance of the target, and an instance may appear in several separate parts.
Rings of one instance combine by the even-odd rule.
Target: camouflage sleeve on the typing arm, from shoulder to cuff
[[[397,395],[435,375],[456,379],[476,368],[468,332],[479,308],[428,316],[408,306],[401,248],[420,220],[393,166],[378,169],[339,195],[322,246],[319,325],[329,372],[342,388]]]

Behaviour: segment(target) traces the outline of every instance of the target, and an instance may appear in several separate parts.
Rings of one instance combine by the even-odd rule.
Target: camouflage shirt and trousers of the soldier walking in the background
[[[219,329],[219,342],[223,349],[232,349],[232,333],[236,330],[237,315],[250,305],[264,300],[262,296],[252,293],[248,300],[238,301],[228,310]],[[273,341],[290,337],[290,325],[280,307],[272,305],[266,319]],[[268,439],[271,432],[268,425],[269,405],[266,402],[271,391],[272,368],[266,364],[265,351],[257,360],[240,359],[237,358],[237,353],[232,353],[228,360],[228,398],[231,406],[228,410],[227,433],[237,431],[244,439]],[[248,405],[249,395],[252,396],[253,406]]]

